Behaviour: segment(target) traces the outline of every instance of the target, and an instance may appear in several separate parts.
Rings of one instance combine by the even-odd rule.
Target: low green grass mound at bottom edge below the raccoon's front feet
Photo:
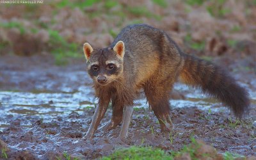
[[[152,147],[130,147],[116,150],[113,154],[102,157],[104,160],[110,159],[173,159],[164,150]]]

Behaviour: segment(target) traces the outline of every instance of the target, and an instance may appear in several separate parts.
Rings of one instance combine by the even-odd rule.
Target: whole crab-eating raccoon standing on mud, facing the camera
[[[178,80],[221,100],[238,118],[250,106],[248,93],[228,72],[182,52],[164,31],[147,24],[125,27],[106,48],[85,43],[83,51],[95,96],[99,98],[86,138],[92,138],[111,101],[113,115],[102,128],[109,131],[122,122],[118,138],[124,140],[134,99],[141,89],[161,131],[172,131],[169,95]]]

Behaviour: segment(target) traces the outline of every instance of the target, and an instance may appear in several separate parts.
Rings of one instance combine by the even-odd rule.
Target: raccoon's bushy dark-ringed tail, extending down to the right
[[[188,54],[184,54],[184,58],[181,81],[202,88],[203,92],[220,99],[238,118],[242,118],[250,106],[246,90],[220,67]]]

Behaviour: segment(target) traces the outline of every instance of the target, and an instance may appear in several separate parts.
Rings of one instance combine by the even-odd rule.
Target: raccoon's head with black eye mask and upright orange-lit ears
[[[95,83],[107,85],[116,81],[123,72],[124,42],[119,41],[115,47],[93,49],[85,43],[83,46],[84,56],[87,61],[88,74]]]

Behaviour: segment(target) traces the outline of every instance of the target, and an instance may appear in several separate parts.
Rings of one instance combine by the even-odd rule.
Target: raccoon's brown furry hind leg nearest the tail
[[[172,131],[173,129],[172,120],[170,119],[169,103],[170,90],[172,87],[169,88],[168,86],[170,86],[170,84],[154,84],[154,86],[147,84],[145,87],[145,95],[147,97],[148,104],[157,116],[162,132]]]

